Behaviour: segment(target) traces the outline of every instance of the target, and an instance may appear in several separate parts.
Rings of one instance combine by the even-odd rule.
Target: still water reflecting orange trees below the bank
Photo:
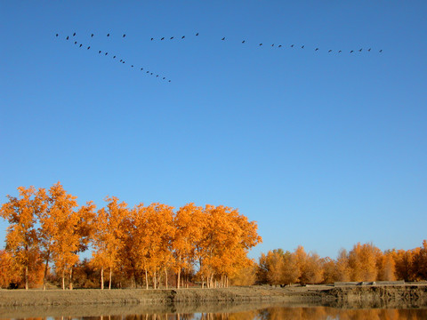
[[[12,318],[9,318],[12,320]],[[13,320],[16,320],[14,318]],[[245,312],[147,313],[127,316],[27,317],[26,320],[418,320],[427,319],[427,309],[338,309],[326,307],[271,307]]]

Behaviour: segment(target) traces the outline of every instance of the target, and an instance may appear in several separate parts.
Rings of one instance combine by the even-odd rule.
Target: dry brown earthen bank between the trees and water
[[[238,312],[270,307],[427,308],[426,284],[180,290],[0,290],[0,318]]]

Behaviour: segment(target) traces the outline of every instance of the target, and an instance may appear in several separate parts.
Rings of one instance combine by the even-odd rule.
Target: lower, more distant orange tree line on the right
[[[334,282],[407,282],[427,279],[427,241],[412,250],[386,250],[374,244],[355,244],[342,249],[336,260],[306,253],[300,245],[294,252],[277,249],[262,253],[257,280],[262,284],[332,284]]]

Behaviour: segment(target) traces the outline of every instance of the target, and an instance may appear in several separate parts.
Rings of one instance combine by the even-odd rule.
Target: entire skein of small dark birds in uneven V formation
[[[55,35],[56,37],[60,37],[60,35],[59,34],[56,34]],[[65,39],[66,40],[71,40],[72,41],[72,39],[76,39],[77,37],[77,33],[76,32],[74,32],[73,33],[73,35],[72,36],[66,36],[65,37]],[[93,38],[93,36],[95,36],[94,34],[91,34],[91,37]],[[107,37],[110,37],[111,35],[108,33],[107,35],[106,35]],[[196,34],[194,34],[193,36],[199,36],[199,33],[197,32]],[[125,34],[123,34],[123,35],[120,35],[120,37],[122,37],[122,38],[125,38],[126,37],[126,35]],[[162,36],[162,37],[159,37],[159,38],[155,38],[155,37],[151,37],[150,38],[150,41],[157,41],[157,40],[159,40],[159,41],[165,41],[165,40],[169,40],[169,41],[171,41],[171,40],[173,40],[173,39],[178,39],[178,40],[184,40],[186,38],[186,36]],[[225,36],[223,36],[222,38],[221,38],[221,41],[226,41],[227,40],[227,38],[225,37]],[[74,41],[74,44],[75,45],[77,45],[79,48],[82,48],[82,47],[84,47],[84,44],[79,44],[77,41]],[[246,40],[245,39],[243,39],[243,40],[241,40],[241,44],[247,44],[247,42],[246,42]],[[258,45],[259,47],[265,47],[265,46],[270,46],[271,48],[299,48],[299,49],[306,49],[306,50],[310,50],[310,49],[308,49],[304,44],[299,44],[299,45],[296,45],[296,44],[286,44],[286,45],[282,45],[282,44],[263,44],[263,43],[256,43],[255,45]],[[86,50],[91,50],[91,46],[90,45],[85,45],[85,48],[86,48]],[[313,47],[313,48],[311,48],[311,50],[313,50],[314,49],[314,52],[319,52],[320,51],[320,49],[318,48],[318,47]],[[365,52],[371,52],[371,51],[373,51],[372,50],[372,48],[367,48],[367,49],[364,49],[364,48],[359,48],[359,49],[355,49],[355,50],[350,50],[349,52],[350,53],[354,53],[354,52],[363,52],[363,51],[365,51]],[[328,53],[333,53],[333,52],[337,52],[337,53],[342,53],[343,51],[342,50],[332,50],[332,49],[326,49],[326,52],[328,52]],[[383,52],[383,49],[380,49],[380,50],[378,50],[378,52],[380,52],[380,53],[382,53]],[[108,56],[109,55],[109,52],[102,52],[101,50],[98,50],[98,54],[103,54],[104,56]],[[122,64],[125,64],[126,63],[126,61],[124,60],[124,59],[119,59],[116,55],[112,55],[112,54],[110,54],[110,56],[112,56],[112,59],[114,59],[114,60],[117,60],[119,63],[122,63]],[[167,81],[167,82],[171,82],[171,80],[170,79],[167,79],[165,76],[159,76],[159,75],[156,75],[155,73],[153,73],[153,72],[151,72],[151,71],[149,71],[149,70],[147,70],[146,68],[143,68],[143,67],[135,67],[135,65],[133,65],[133,64],[130,64],[130,67],[131,68],[135,68],[135,69],[139,69],[140,71],[143,71],[143,72],[145,72],[147,75],[149,75],[149,76],[156,76],[156,77],[159,77],[159,78],[161,78],[162,80],[165,80],[165,81]]]

